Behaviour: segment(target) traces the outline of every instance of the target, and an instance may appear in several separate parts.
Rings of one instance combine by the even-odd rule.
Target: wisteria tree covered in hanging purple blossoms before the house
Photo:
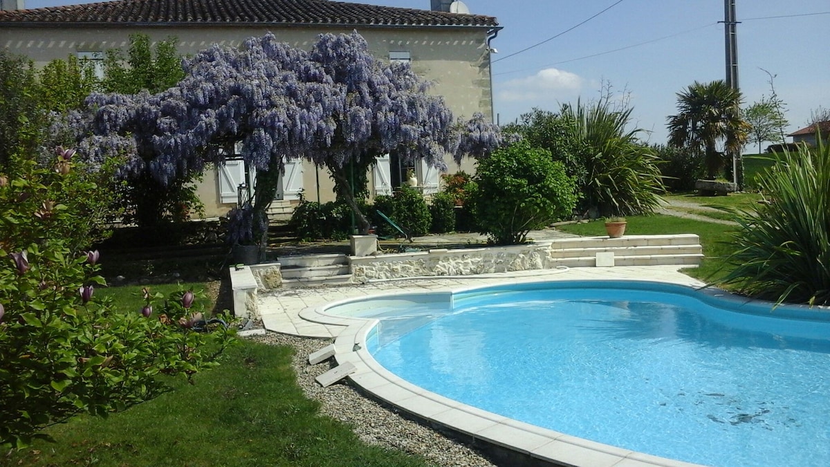
[[[363,173],[378,155],[397,151],[445,168],[470,151],[486,154],[500,142],[483,117],[461,124],[440,96],[405,64],[385,64],[363,37],[321,35],[309,52],[271,34],[238,49],[214,46],[185,63],[178,86],[155,95],[90,96],[97,109],[96,145],[120,150],[125,170],[149,170],[162,183],[221,163],[222,148],[242,141],[242,157],[256,168],[254,203],[237,212],[258,243],[266,238],[266,207],[276,195],[287,160],[304,158],[330,171],[339,199],[359,208],[350,173]],[[475,155],[475,154],[473,154]]]

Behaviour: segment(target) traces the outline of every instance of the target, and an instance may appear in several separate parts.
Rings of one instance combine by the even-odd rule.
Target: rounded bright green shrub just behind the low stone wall
[[[470,201],[482,234],[492,243],[515,244],[532,229],[569,218],[576,194],[562,163],[521,141],[481,160]]]

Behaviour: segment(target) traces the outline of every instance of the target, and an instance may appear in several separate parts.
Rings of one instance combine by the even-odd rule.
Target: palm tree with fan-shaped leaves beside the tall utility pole
[[[717,145],[723,142],[727,154],[734,154],[749,139],[749,124],[741,116],[740,91],[725,81],[695,81],[677,93],[676,116],[669,116],[669,145],[704,150],[706,175],[714,179],[724,165],[724,154]]]

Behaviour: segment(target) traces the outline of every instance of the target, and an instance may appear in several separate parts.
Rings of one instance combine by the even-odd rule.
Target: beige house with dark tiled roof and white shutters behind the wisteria
[[[422,0],[427,2],[427,0]],[[430,10],[379,7],[328,0],[117,0],[33,10],[21,2],[3,2],[0,47],[25,55],[37,66],[69,56],[92,60],[110,48],[126,50],[129,36],[144,33],[151,42],[177,38],[178,52],[194,54],[214,44],[237,47],[248,37],[273,33],[293,47],[310,49],[322,33],[359,32],[375,57],[408,61],[413,71],[432,81],[430,92],[444,97],[454,116],[481,112],[492,120],[491,40],[500,30],[496,18],[449,12],[451,2],[432,0]],[[8,7],[11,5],[12,7]],[[445,156],[451,172],[472,172]],[[436,170],[420,161],[405,166],[394,155],[378,159],[369,175],[369,192],[388,194],[417,177],[424,194],[439,189]],[[208,217],[237,204],[240,184],[256,184],[256,174],[241,160],[206,170],[198,185]],[[306,199],[334,199],[334,184],[325,168],[308,161],[288,161],[274,212],[289,213],[300,190]]]

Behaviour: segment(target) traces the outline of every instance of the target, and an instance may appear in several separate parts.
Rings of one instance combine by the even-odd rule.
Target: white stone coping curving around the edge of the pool
[[[596,271],[596,268],[594,268],[594,271]],[[574,280],[574,278],[568,277],[568,274],[562,276],[524,276],[512,279],[516,283]],[[619,278],[617,276],[613,280],[671,283],[691,288],[701,288],[706,285],[681,273],[661,279]],[[469,287],[447,285],[444,288],[437,288],[430,292],[419,292],[455,293],[482,287],[486,288],[487,285],[480,284]],[[405,294],[406,291],[398,289],[394,292],[378,292],[366,297],[392,297],[399,296],[402,293]],[[554,465],[591,465],[597,467],[681,467],[696,465],[626,450],[613,445],[605,445],[530,425],[474,406],[468,406],[415,386],[380,366],[374,360],[374,357],[369,354],[366,342],[369,332],[377,325],[378,319],[333,316],[324,312],[329,307],[340,303],[353,302],[354,300],[355,297],[349,297],[322,305],[305,307],[300,312],[300,317],[310,322],[345,326],[334,341],[334,359],[338,365],[347,362],[354,365],[355,371],[348,376],[349,380],[381,401],[398,407],[400,410],[404,410],[429,424],[471,436],[473,440],[500,446],[520,453],[520,455],[530,456],[531,460],[540,460]]]

